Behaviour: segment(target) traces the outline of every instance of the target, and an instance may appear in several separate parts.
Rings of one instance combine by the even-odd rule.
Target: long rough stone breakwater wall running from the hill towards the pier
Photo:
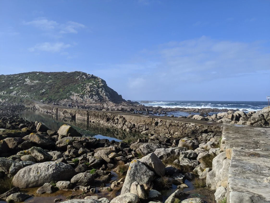
[[[82,109],[68,109],[49,105],[36,104],[35,109],[56,114],[58,118],[81,120],[86,123],[99,123],[106,127],[113,127],[127,132],[141,134],[157,134],[167,137],[181,137],[198,133],[215,132],[222,130],[222,124],[190,119],[180,119],[161,116],[142,116],[126,112],[92,111]]]

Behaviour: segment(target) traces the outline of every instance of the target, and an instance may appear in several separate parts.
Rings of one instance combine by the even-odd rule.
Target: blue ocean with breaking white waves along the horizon
[[[145,106],[160,106],[163,108],[218,108],[218,109],[239,109],[245,111],[258,111],[268,106],[268,101],[166,101],[149,100],[150,103],[142,103]],[[141,100],[136,100],[141,103]]]

